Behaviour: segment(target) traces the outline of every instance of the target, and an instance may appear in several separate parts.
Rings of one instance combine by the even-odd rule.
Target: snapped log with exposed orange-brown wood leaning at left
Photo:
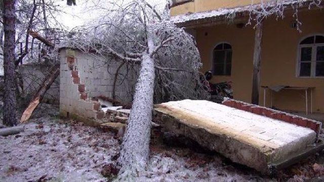
[[[20,123],[26,122],[35,110],[39,102],[43,99],[46,91],[51,87],[52,83],[60,74],[60,65],[55,65],[51,69],[49,75],[44,79],[43,84],[38,88],[38,91],[31,99],[28,107],[25,109],[24,113],[21,116]]]

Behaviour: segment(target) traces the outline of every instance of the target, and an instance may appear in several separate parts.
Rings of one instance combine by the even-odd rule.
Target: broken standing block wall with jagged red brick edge
[[[60,66],[61,115],[84,122],[103,118],[104,112],[100,103],[92,97],[111,97],[114,74],[119,64],[105,64],[93,55],[78,50],[61,49]],[[126,69],[120,69],[120,73],[125,75]],[[124,77],[117,79],[117,99],[125,102],[132,100],[132,79],[136,80],[134,71],[129,71],[127,80]]]

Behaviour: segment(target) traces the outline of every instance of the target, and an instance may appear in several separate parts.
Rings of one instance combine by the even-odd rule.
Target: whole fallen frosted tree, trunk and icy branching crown
[[[101,62],[107,57],[107,64],[113,57],[120,65],[140,66],[118,159],[118,180],[125,181],[145,170],[154,99],[201,99],[206,95],[199,82],[200,56],[191,35],[166,21],[168,14],[159,13],[146,1],[114,5],[119,8],[108,11],[96,26],[80,30],[65,46],[95,52]]]

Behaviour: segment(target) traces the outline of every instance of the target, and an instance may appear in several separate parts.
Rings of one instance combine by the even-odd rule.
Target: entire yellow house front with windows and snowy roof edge
[[[253,85],[259,80],[259,105],[324,113],[324,11],[300,8],[298,30],[295,11],[288,8],[285,18],[265,19],[260,31],[247,25],[250,6],[249,0],[178,1],[171,20],[195,37],[201,71],[213,72],[212,83],[232,82],[234,99],[253,102]],[[229,20],[232,12],[235,17]],[[254,79],[258,34],[261,58]]]

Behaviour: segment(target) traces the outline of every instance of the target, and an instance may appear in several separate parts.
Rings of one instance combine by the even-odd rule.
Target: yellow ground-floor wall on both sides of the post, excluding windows
[[[284,20],[269,18],[264,22],[261,85],[288,85],[315,87],[313,91],[314,112],[324,113],[324,79],[296,77],[299,42],[313,34],[324,34],[324,12],[304,11],[299,13],[302,32],[291,28],[294,18],[287,14]],[[212,69],[212,51],[221,42],[232,45],[231,76],[214,76],[213,83],[232,81],[234,99],[251,102],[253,73],[253,27],[237,28],[236,25],[216,25],[196,28],[196,41],[203,68]],[[283,90],[273,93],[273,106],[283,110],[305,111],[305,92]],[[266,92],[266,106],[270,106],[270,92]],[[310,94],[308,93],[309,109]],[[260,89],[260,105],[263,105],[263,89]]]

